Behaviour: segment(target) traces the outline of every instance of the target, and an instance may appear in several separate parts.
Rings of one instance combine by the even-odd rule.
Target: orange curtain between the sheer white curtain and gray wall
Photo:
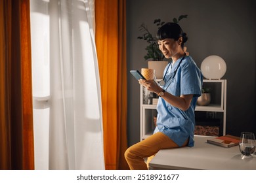
[[[106,169],[128,169],[125,0],[95,0]]]

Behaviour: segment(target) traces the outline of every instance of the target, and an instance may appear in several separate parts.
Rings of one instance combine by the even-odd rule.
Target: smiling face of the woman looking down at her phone
[[[175,57],[176,54],[180,52],[181,44],[179,44],[179,41],[180,40],[175,41],[174,39],[163,39],[158,41],[159,49],[165,58]]]

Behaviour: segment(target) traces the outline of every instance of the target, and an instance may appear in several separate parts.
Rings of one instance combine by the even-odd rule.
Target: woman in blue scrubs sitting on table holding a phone
[[[188,38],[178,24],[162,25],[156,38],[163,56],[173,61],[165,68],[159,84],[154,80],[139,80],[142,86],[159,95],[158,118],[154,134],[126,150],[130,169],[148,169],[149,161],[160,149],[194,146],[194,110],[201,95],[202,73],[184,53]]]

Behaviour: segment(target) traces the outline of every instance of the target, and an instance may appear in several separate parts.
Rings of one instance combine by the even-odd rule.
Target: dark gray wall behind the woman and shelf
[[[180,22],[188,34],[188,52],[200,67],[204,58],[221,56],[226,61],[227,116],[226,133],[256,133],[256,1],[255,0],[127,0],[127,84],[129,146],[140,140],[139,84],[131,69],[147,67],[144,61],[146,42],[140,36],[144,22],[156,33],[153,21],[166,22],[188,14]]]

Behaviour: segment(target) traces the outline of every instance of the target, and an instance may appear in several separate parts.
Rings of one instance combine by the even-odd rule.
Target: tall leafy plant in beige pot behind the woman
[[[188,15],[181,15],[179,18],[173,18],[174,23],[179,23],[183,18],[187,18]],[[158,27],[158,29],[161,27],[161,25],[165,24],[165,22],[162,22],[160,18],[154,20],[154,24]],[[146,55],[144,56],[144,59],[148,61],[148,68],[149,69],[155,69],[156,78],[163,78],[163,70],[165,69],[166,65],[168,64],[168,59],[164,59],[163,54],[158,48],[158,42],[156,41],[156,37],[150,33],[148,30],[148,27],[142,23],[139,26],[139,31],[142,32],[142,35],[137,37],[137,39],[142,39],[148,43],[148,46],[146,46]],[[156,62],[157,61],[157,62]]]

